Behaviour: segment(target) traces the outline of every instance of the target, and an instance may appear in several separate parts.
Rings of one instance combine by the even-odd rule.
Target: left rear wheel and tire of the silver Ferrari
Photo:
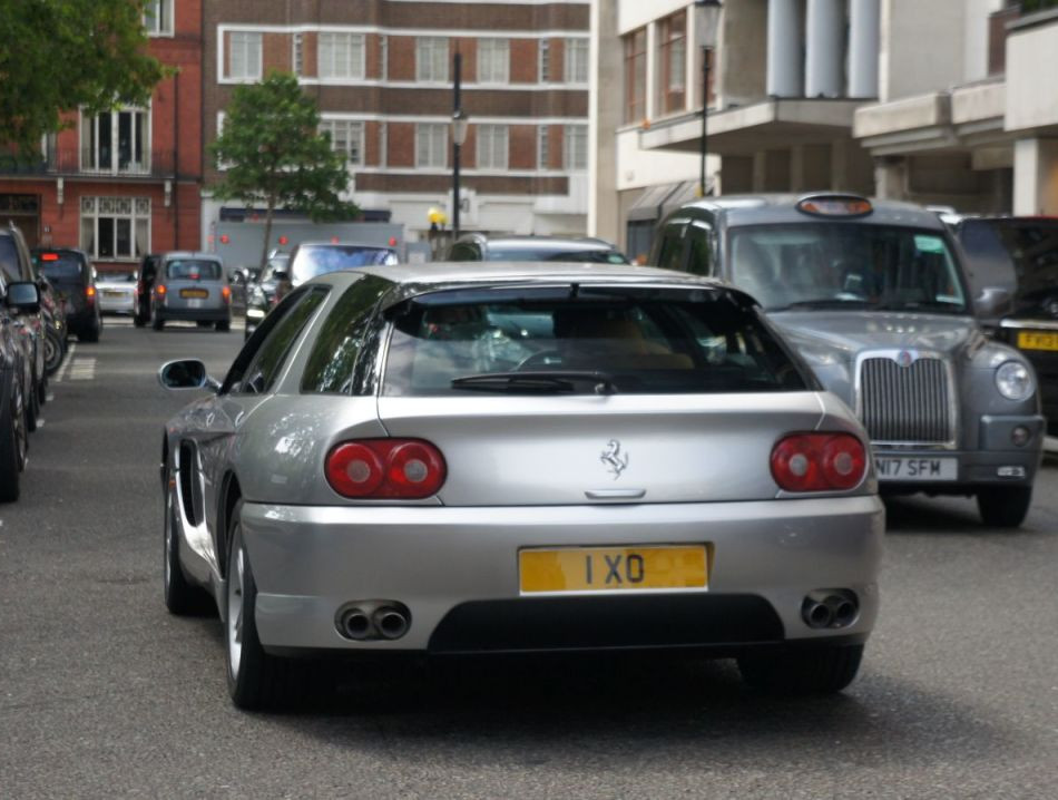
[[[293,665],[270,655],[257,637],[257,585],[243,542],[239,500],[228,525],[227,582],[224,588],[224,644],[228,693],[246,711],[275,708],[292,699]]]

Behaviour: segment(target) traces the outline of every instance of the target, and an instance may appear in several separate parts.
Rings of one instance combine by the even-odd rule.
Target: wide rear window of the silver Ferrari
[[[490,390],[497,381],[481,378],[490,374],[515,374],[509,391],[533,391],[525,373],[541,378],[536,390],[570,393],[599,390],[588,373],[600,374],[607,391],[637,394],[811,386],[761,312],[724,289],[444,291],[390,313],[384,394]]]

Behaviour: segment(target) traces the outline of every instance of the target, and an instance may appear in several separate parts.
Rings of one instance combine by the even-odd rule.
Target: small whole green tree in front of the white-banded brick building
[[[360,213],[340,197],[349,185],[345,157],[320,133],[315,100],[293,75],[270,72],[259,84],[236,87],[209,152],[224,166],[223,179],[210,187],[217,197],[247,205],[264,199],[262,265],[276,208],[302,212],[313,222],[352,219]]]

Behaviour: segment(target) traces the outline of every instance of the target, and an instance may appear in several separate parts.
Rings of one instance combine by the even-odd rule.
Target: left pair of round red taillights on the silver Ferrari
[[[444,484],[444,457],[422,439],[356,439],[331,448],[327,482],[343,497],[413,500]]]

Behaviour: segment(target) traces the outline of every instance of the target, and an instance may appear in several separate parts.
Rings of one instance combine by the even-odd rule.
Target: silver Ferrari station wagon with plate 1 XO
[[[293,290],[161,452],[165,601],[241,708],[295,656],[693,648],[832,692],[884,511],[855,416],[738,290],[615,265],[368,266]],[[205,592],[204,592],[205,591]],[[207,601],[208,602],[208,601]]]

